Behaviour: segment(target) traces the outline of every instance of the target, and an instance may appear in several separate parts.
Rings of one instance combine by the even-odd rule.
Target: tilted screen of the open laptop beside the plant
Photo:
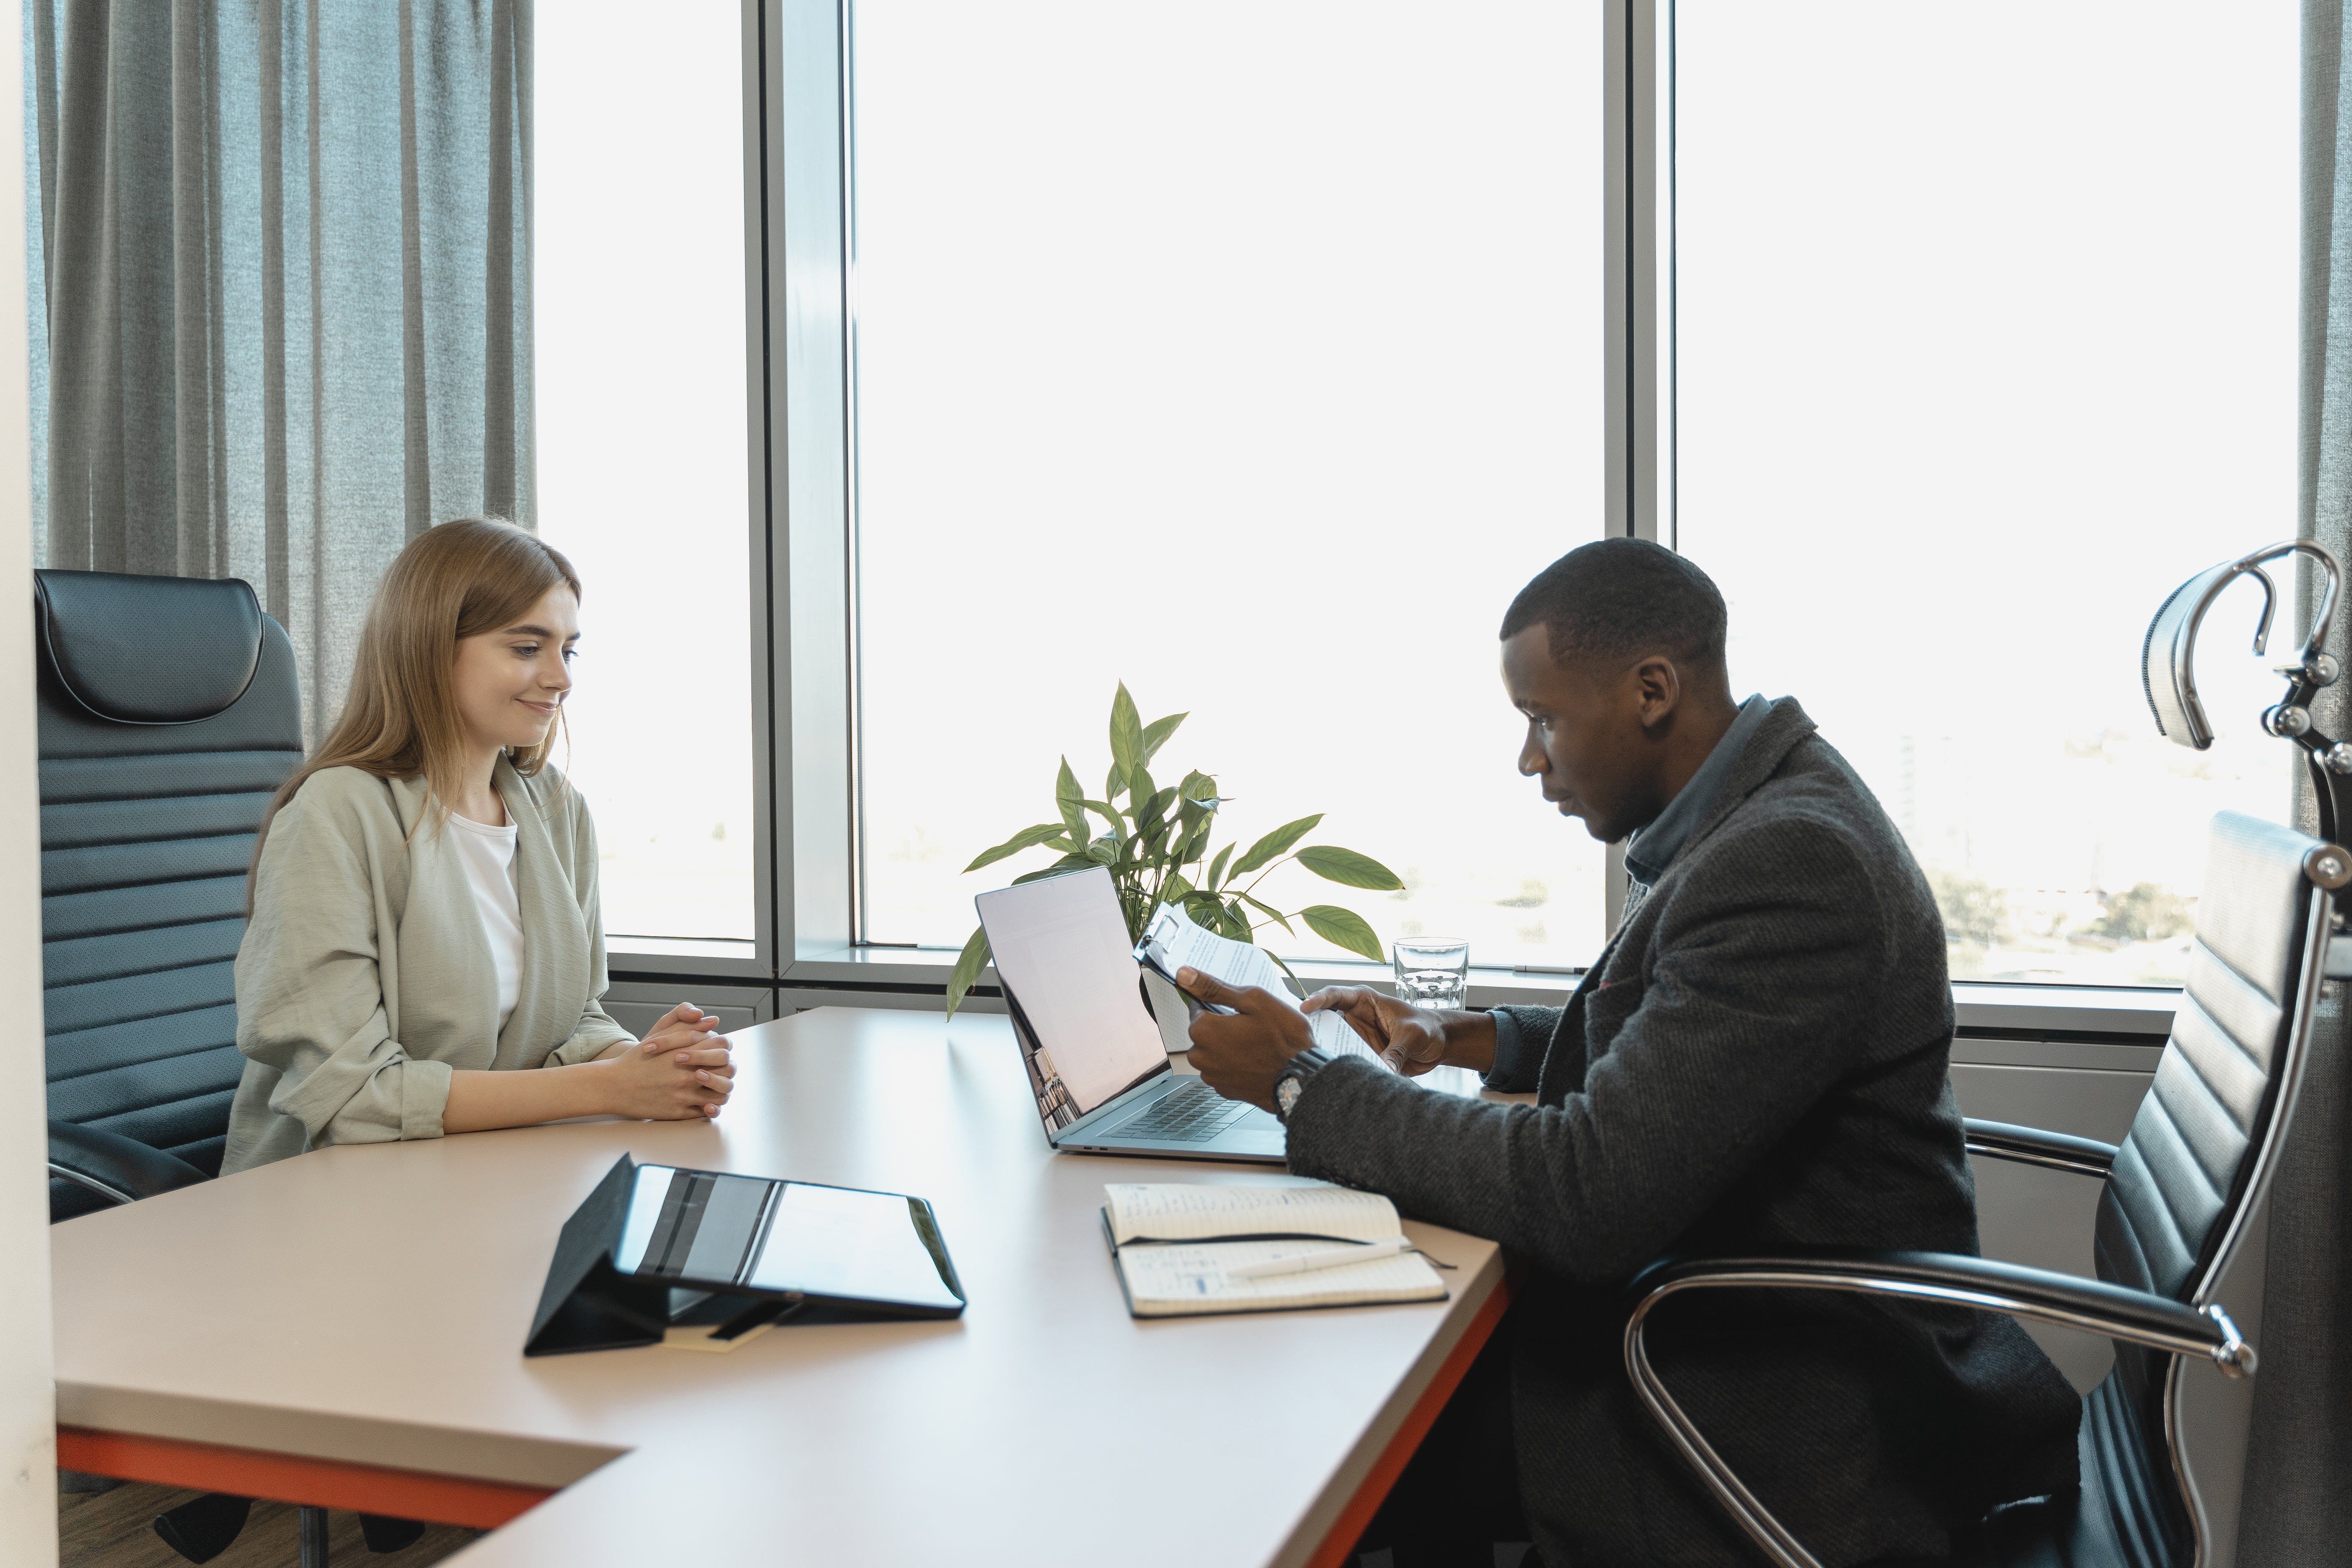
[[[1108,870],[1023,882],[974,903],[997,976],[1037,1037],[1030,1088],[1049,1128],[1167,1067]]]

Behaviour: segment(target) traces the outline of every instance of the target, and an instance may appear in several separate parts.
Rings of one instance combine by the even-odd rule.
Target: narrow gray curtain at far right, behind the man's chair
[[[2303,5],[2303,536],[2352,562],[2352,59],[2343,0]],[[2312,611],[2303,574],[2303,614]],[[2347,616],[2328,651],[2352,665]],[[2319,693],[2319,726],[2352,733],[2352,682]],[[2298,816],[2317,832],[2312,792]],[[2352,832],[2352,823],[2338,825]],[[2270,1194],[2263,1368],[2239,1563],[2333,1563],[2352,1540],[2352,1009],[2328,987],[2312,1065]]]

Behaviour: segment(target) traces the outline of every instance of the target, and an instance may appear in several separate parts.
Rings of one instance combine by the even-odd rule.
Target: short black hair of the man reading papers
[[[1724,621],[1724,595],[1705,571],[1646,538],[1602,538],[1538,571],[1510,602],[1503,637],[1545,625],[1555,663],[1665,654],[1722,665]]]

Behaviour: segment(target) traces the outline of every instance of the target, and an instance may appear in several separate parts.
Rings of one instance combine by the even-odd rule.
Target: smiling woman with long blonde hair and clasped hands
[[[506,522],[383,574],[343,717],[261,820],[238,950],[245,1079],[221,1171],[332,1143],[562,1117],[717,1117],[727,1041],[691,1004],[604,1016],[588,806],[548,766],[581,583]]]

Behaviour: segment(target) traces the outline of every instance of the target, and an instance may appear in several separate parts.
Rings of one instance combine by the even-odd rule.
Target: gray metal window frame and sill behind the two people
[[[753,980],[804,1006],[927,1006],[955,952],[870,945],[861,931],[856,649],[856,0],[743,0],[748,585],[755,625],[753,943],[619,938],[628,980]],[[1604,520],[1611,536],[1675,529],[1675,5],[1604,0]],[[1625,900],[1623,846],[1595,896]],[[1385,966],[1298,964],[1364,983]],[[1475,969],[1470,1001],[1559,1004],[1573,973]],[[2176,990],[1959,985],[1964,1030],[2161,1039]],[[1002,1011],[995,973],[974,1011]]]

